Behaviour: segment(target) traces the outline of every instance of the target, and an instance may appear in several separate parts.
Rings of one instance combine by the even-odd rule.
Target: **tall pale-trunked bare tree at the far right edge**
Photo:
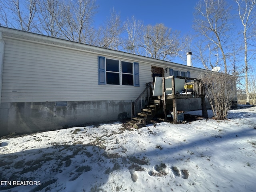
[[[250,104],[250,93],[248,90],[248,46],[250,44],[248,41],[256,36],[255,32],[250,30],[256,22],[256,0],[236,0],[236,3],[238,4],[239,17],[243,25],[246,104]]]

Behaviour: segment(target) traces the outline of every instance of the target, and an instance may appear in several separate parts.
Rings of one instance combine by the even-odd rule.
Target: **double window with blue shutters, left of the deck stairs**
[[[139,64],[99,56],[98,84],[140,86]]]

